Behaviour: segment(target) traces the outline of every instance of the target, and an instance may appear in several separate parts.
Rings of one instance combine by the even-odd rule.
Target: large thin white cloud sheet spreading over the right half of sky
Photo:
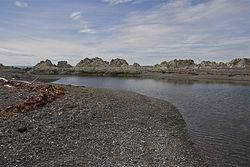
[[[169,1],[148,11],[131,13],[123,24],[110,29],[116,35],[102,46],[113,55],[141,62],[249,57],[249,5],[234,0],[196,5],[188,0]]]

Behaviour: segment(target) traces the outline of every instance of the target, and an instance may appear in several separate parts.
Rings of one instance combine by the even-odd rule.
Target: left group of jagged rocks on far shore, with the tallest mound
[[[111,62],[95,57],[85,58],[75,67],[72,67],[67,61],[59,61],[57,66],[50,60],[41,61],[35,65],[30,72],[33,74],[93,74],[93,75],[124,75],[142,73],[143,68],[135,63],[129,65],[124,59],[112,59]]]

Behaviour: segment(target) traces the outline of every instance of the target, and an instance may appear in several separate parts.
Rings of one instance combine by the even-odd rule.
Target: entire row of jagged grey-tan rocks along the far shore
[[[247,70],[246,70],[247,69]],[[179,74],[218,74],[237,75],[240,72],[247,73],[250,70],[250,59],[234,59],[229,63],[217,63],[214,61],[202,61],[195,64],[193,60],[163,61],[154,66],[142,67],[138,63],[129,65],[126,60],[116,58],[110,62],[99,57],[85,58],[75,67],[67,61],[59,61],[57,66],[50,60],[41,61],[35,65],[30,72],[34,74],[93,74],[93,75],[119,75],[140,74],[147,72],[179,73]]]

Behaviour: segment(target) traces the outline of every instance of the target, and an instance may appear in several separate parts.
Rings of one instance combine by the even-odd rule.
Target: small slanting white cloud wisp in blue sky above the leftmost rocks
[[[71,13],[70,18],[73,19],[74,21],[77,21],[79,25],[79,33],[85,33],[85,34],[95,34],[95,30],[91,29],[89,27],[88,22],[84,19],[82,16],[82,13],[80,11],[75,11]]]

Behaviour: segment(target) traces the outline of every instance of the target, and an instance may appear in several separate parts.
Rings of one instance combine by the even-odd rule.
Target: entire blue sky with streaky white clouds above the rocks
[[[250,58],[250,0],[0,0],[0,63]]]

